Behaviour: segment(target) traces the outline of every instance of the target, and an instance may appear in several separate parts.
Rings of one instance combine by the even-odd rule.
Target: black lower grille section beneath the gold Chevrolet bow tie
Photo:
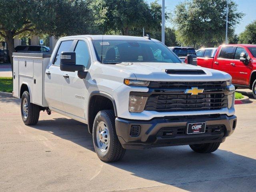
[[[225,107],[227,107],[227,96],[223,93],[198,95],[154,93],[148,97],[145,110],[177,112],[218,110]]]

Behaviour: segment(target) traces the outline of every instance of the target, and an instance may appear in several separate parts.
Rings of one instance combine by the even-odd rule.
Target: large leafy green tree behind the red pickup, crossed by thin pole
[[[228,4],[228,37],[234,34],[243,13],[237,4]],[[189,0],[178,4],[174,10],[176,38],[182,45],[217,46],[224,42],[226,33],[226,0]]]

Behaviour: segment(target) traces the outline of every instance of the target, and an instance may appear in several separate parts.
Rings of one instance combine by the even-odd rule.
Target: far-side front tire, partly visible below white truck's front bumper
[[[214,142],[214,143],[203,143],[203,144],[194,144],[189,145],[192,150],[198,153],[212,153],[216,151],[221,142]]]

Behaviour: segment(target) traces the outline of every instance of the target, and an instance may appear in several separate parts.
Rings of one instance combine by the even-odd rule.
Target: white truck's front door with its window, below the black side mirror
[[[87,40],[75,40],[76,64],[84,65],[88,71],[91,58]],[[62,103],[65,112],[85,119],[87,78],[80,79],[76,72],[64,72],[62,80]]]

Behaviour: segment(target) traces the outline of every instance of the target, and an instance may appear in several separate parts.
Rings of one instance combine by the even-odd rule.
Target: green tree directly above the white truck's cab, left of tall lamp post
[[[102,2],[102,0],[99,0]],[[115,32],[122,35],[142,35],[147,31],[161,28],[162,6],[156,1],[150,5],[144,0],[103,0],[101,6],[106,10],[105,34]],[[100,8],[103,10],[103,8]],[[168,18],[168,14],[166,14]]]

